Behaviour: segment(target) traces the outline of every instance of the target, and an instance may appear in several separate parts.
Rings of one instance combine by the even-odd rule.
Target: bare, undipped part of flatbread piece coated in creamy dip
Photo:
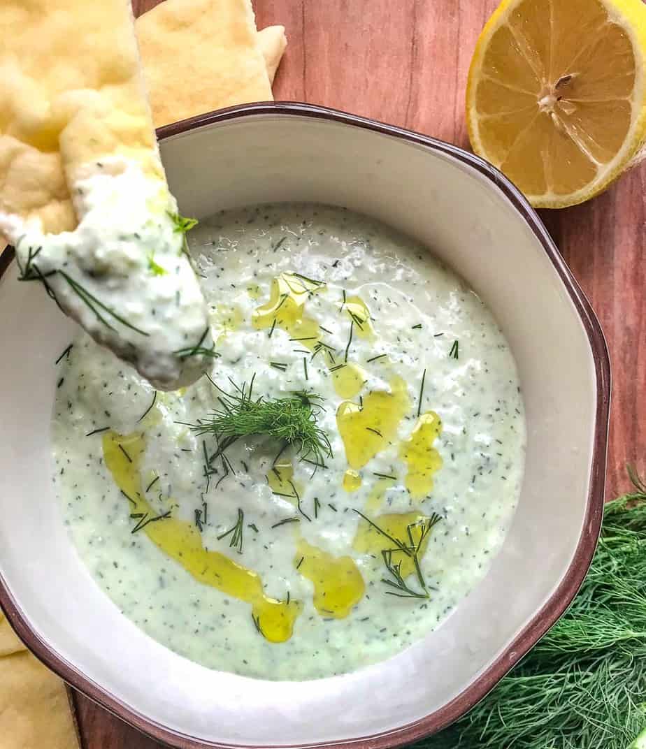
[[[74,228],[65,183],[113,154],[165,181],[132,23],[127,0],[56,0],[55,12],[0,0],[1,212]]]

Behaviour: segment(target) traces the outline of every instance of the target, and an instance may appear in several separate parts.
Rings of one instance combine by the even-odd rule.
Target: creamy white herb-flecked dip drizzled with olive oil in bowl
[[[316,679],[389,658],[486,574],[525,461],[492,313],[423,246],[316,204],[189,237],[217,354],[157,392],[85,333],[55,365],[79,557],[187,658]]]

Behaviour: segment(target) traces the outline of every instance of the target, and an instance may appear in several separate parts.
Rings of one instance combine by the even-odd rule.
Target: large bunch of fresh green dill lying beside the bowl
[[[606,505],[567,613],[501,683],[419,749],[627,749],[646,728],[646,483]]]

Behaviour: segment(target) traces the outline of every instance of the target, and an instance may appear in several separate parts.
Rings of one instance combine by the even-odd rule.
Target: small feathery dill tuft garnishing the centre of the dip
[[[190,425],[198,435],[214,434],[218,448],[211,461],[241,437],[262,434],[282,441],[283,449],[288,445],[295,446],[303,460],[310,460],[317,466],[323,465],[324,458],[332,455],[330,440],[317,424],[322,408],[320,395],[301,391],[294,392],[291,398],[265,398],[262,395],[253,398],[253,377],[249,387],[245,383],[238,386],[232,381],[234,392],[226,392],[214,380],[211,384],[220,393],[217,398],[220,408],[212,410],[207,419]]]

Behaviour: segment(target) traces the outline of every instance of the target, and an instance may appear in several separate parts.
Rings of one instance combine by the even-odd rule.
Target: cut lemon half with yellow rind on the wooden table
[[[536,207],[592,198],[646,140],[642,0],[504,0],[471,61],[474,151]]]

